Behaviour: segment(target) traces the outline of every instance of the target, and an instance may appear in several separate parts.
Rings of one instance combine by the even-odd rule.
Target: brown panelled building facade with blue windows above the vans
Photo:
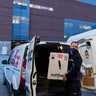
[[[39,35],[41,40],[66,41],[74,34],[96,28],[96,5],[81,1],[0,1],[0,40],[29,41]]]

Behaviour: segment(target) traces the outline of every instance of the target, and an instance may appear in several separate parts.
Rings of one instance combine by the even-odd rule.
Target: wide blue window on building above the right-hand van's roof
[[[64,20],[64,41],[70,36],[96,28],[96,23],[73,19]]]

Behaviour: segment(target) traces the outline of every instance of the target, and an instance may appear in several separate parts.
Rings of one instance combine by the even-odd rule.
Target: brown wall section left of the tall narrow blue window
[[[0,40],[11,40],[13,0],[0,0]]]

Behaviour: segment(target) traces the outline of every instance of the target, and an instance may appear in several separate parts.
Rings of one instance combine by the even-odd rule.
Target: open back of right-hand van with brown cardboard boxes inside
[[[79,47],[83,59],[81,67],[82,87],[87,89],[96,89],[95,48],[93,44],[93,40],[88,40]]]

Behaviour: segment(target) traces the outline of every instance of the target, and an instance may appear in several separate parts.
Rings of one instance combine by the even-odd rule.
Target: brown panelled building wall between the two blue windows
[[[64,40],[64,19],[96,22],[96,6],[76,0],[31,0],[31,4],[52,7],[53,11],[31,8],[29,38]]]

